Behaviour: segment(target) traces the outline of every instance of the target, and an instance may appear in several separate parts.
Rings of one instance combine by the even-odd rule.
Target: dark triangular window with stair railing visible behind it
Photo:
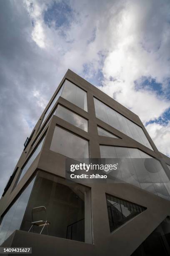
[[[145,207],[106,194],[110,232],[146,210]]]

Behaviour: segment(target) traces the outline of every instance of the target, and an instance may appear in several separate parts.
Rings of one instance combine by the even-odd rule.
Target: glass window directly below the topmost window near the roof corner
[[[85,118],[82,118],[80,115],[75,114],[61,105],[57,105],[55,115],[86,132],[88,131],[88,121]]]

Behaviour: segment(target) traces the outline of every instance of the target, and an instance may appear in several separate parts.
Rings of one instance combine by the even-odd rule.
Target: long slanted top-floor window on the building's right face
[[[117,113],[115,110],[108,107],[100,100],[94,98],[94,102],[97,118],[153,150],[145,136],[145,133],[143,132],[143,129],[140,126],[136,125],[128,118],[125,118],[123,115]]]

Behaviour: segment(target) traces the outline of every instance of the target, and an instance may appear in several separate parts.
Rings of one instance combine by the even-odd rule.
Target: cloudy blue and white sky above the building
[[[0,0],[0,194],[68,68],[170,156],[169,0]]]

